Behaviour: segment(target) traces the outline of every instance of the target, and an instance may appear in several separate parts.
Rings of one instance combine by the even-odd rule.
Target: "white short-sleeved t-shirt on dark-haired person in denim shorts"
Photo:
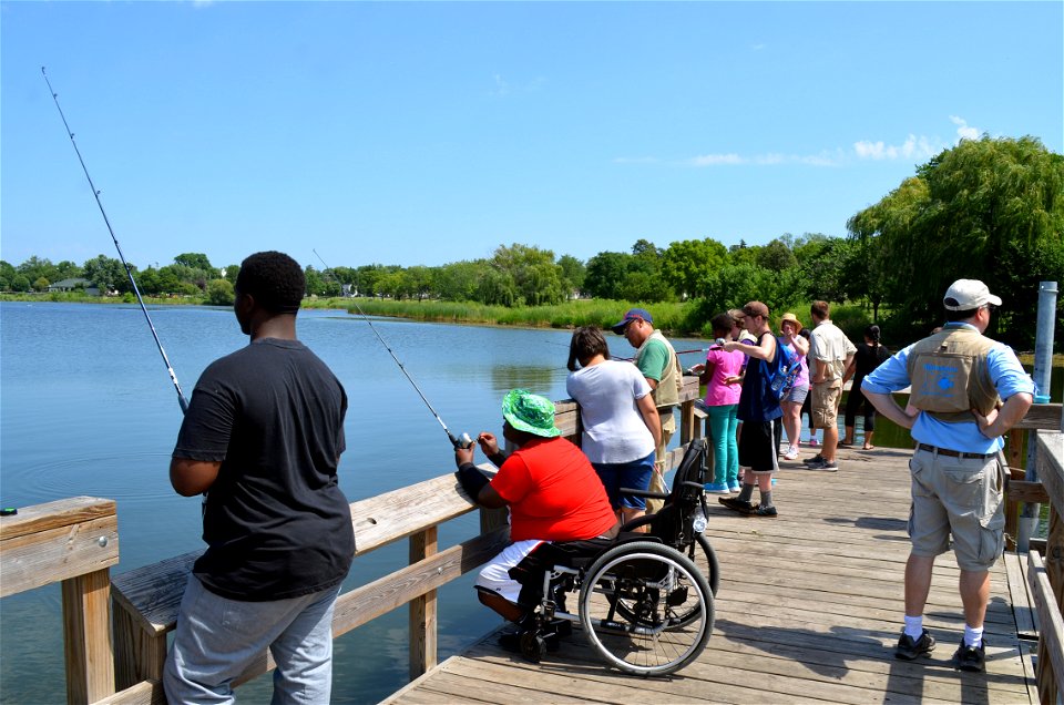
[[[654,436],[636,405],[651,386],[631,362],[606,360],[570,372],[565,390],[580,405],[581,449],[592,462],[632,462],[654,450]]]

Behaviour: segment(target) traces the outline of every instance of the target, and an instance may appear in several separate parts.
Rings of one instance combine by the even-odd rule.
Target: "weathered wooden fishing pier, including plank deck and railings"
[[[690,378],[678,415],[682,443],[700,436],[697,397],[697,380]],[[495,518],[483,514],[479,534],[449,548],[438,544],[440,524],[474,511],[450,472],[351,504],[356,564],[398,541],[408,543],[409,564],[340,595],[332,633],[407,609],[411,683],[389,703],[1058,702],[1064,695],[1060,419],[1061,405],[1036,407],[1009,441],[1006,532],[1014,530],[1017,501],[1047,502],[1050,528],[1042,545],[1032,542],[1023,556],[1006,553],[993,570],[985,674],[962,674],[950,665],[963,629],[959,571],[950,554],[939,559],[924,620],[938,648],[915,663],[893,658],[909,553],[909,451],[889,449],[843,450],[836,473],[785,462],[774,492],[778,519],[739,517],[710,497],[707,533],[720,562],[714,635],[698,662],[667,678],[608,670],[579,630],[540,664],[502,652],[493,634],[438,664],[437,590],[478,570],[508,539],[505,529],[491,528]],[[564,436],[579,436],[574,403],[560,402],[555,421]],[[1035,436],[1034,429],[1053,430]],[[1019,469],[1025,443],[1037,445],[1040,483],[1023,481]],[[672,451],[668,463],[675,466],[682,454],[683,448]],[[62,582],[69,703],[160,705],[167,634],[198,552],[111,580],[119,560],[116,511],[111,500],[72,498],[0,519],[0,594]],[[264,653],[238,682],[272,667]]]

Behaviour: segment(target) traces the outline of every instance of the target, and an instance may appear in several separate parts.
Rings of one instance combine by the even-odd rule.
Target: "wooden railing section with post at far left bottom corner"
[[[61,582],[66,701],[114,693],[109,569],[119,562],[112,500],[94,497],[37,504],[0,518],[0,597]]]

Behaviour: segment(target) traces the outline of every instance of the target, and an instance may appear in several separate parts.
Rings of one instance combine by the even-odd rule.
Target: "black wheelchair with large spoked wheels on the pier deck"
[[[693,441],[665,508],[622,527],[616,539],[543,544],[510,570],[528,609],[519,637],[525,658],[539,663],[577,623],[589,645],[625,673],[667,675],[698,657],[713,633],[719,572],[702,535],[706,456],[706,441]],[[632,531],[644,525],[647,533]]]

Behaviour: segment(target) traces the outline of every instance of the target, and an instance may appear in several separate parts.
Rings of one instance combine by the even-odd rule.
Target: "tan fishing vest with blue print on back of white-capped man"
[[[909,403],[948,423],[974,421],[1001,403],[986,369],[994,341],[969,327],[945,328],[912,346]]]

